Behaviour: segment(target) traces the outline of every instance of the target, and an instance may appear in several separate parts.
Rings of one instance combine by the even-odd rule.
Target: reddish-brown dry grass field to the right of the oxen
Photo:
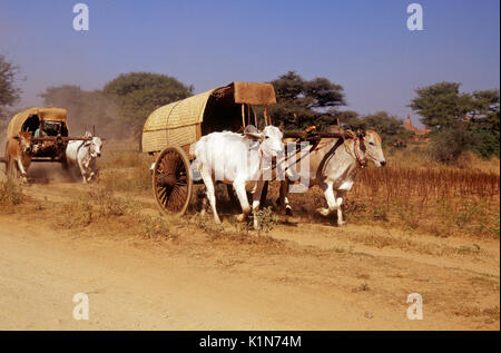
[[[354,220],[403,225],[439,236],[499,237],[500,177],[449,168],[369,168],[346,203]]]

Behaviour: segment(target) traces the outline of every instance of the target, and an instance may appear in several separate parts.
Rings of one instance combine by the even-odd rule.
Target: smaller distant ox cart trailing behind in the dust
[[[60,163],[68,168],[66,147],[70,140],[90,140],[86,137],[69,137],[68,112],[62,108],[37,107],[14,115],[7,127],[7,138],[21,131],[31,133],[31,163]],[[6,164],[9,178],[19,177],[19,170],[9,156],[0,158]]]

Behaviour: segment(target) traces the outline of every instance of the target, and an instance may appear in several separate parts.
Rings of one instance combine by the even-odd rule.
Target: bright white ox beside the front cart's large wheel
[[[254,228],[258,229],[256,212],[265,183],[263,174],[272,171],[273,156],[284,153],[282,138],[282,131],[275,126],[266,126],[263,131],[248,126],[244,136],[228,131],[213,133],[194,145],[194,167],[200,171],[216,224],[219,224],[220,219],[216,210],[215,179],[233,184],[242,206],[238,222],[244,220],[250,213],[246,192],[252,190]]]

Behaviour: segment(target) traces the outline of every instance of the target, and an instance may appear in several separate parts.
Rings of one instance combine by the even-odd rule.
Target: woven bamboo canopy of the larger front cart
[[[143,151],[167,146],[189,148],[212,131],[237,130],[242,119],[253,116],[252,105],[276,104],[269,84],[232,82],[157,108],[143,128]],[[244,109],[246,107],[246,109]]]

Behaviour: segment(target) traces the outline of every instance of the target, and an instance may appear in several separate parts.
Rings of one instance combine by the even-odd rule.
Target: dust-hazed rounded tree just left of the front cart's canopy
[[[136,127],[156,108],[191,96],[193,86],[166,75],[129,72],[106,84],[102,91],[120,107],[124,124]]]

